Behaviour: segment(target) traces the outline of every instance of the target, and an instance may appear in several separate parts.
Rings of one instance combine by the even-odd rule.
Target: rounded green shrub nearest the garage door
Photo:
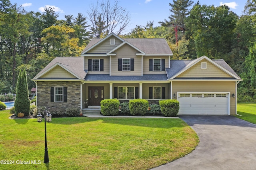
[[[164,116],[177,116],[180,103],[178,100],[168,99],[168,100],[159,100],[159,105]]]

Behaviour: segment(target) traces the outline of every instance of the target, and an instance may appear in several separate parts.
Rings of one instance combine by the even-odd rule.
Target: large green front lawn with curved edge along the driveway
[[[14,164],[0,164],[1,170],[146,170],[192,152],[199,142],[181,119],[52,118],[50,163],[44,164],[44,123],[9,116],[0,111],[0,160]]]

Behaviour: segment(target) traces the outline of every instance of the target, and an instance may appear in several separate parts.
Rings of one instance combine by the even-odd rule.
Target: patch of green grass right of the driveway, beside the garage
[[[236,117],[256,124],[256,103],[238,103]]]

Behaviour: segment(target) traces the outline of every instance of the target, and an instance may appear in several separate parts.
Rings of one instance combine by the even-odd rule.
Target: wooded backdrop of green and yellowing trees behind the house
[[[225,5],[192,4],[173,0],[161,26],[148,21],[124,34],[130,14],[118,0],[89,4],[88,12],[65,15],[66,20],[57,20],[51,7],[27,12],[0,0],[0,94],[9,93],[10,87],[15,92],[20,69],[26,70],[31,89],[36,86],[31,79],[55,57],[80,56],[90,39],[114,32],[122,38],[165,38],[172,59],[224,59],[243,79],[238,102],[256,102],[256,0],[247,0],[241,16]]]

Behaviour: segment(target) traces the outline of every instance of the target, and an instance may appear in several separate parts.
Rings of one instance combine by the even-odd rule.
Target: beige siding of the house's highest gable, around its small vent
[[[110,45],[110,39],[116,39],[115,45]],[[111,36],[96,47],[94,47],[92,50],[88,51],[87,53],[108,53],[112,49],[116,48],[118,45],[120,45],[122,41],[117,39],[115,36]]]

